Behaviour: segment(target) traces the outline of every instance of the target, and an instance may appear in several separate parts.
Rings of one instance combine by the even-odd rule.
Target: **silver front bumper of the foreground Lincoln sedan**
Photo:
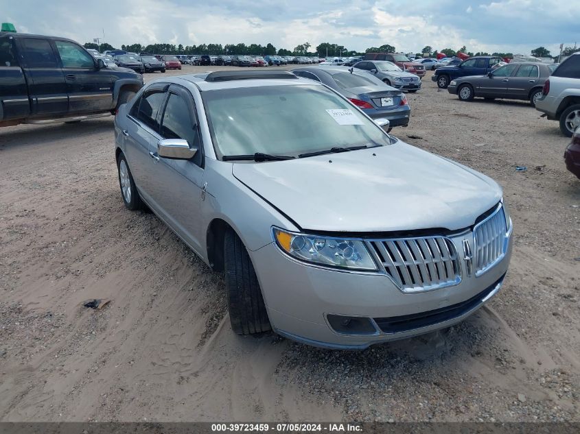
[[[471,235],[463,232],[450,237],[457,252],[463,252],[463,239]],[[283,254],[274,243],[250,253],[270,324],[277,333],[313,346],[355,350],[452,326],[474,313],[502,285],[511,257],[511,237],[507,242],[505,256],[484,274],[469,276],[465,261],[461,261],[459,284],[417,293],[402,292],[384,274],[300,263]],[[463,307],[452,310],[454,306]],[[441,311],[451,313],[445,316]],[[375,330],[364,335],[337,333],[329,326],[327,315],[369,318]],[[435,321],[426,322],[421,320],[423,317]],[[379,325],[397,318],[411,324],[410,329],[387,333],[384,325]]]

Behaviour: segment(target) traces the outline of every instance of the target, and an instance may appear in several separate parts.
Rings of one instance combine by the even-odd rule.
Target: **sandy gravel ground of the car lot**
[[[2,128],[0,420],[580,420],[568,139],[528,104],[462,103],[428,77],[409,101],[393,133],[498,180],[515,248],[469,320],[364,352],[233,335],[222,276],[124,208],[112,118]]]

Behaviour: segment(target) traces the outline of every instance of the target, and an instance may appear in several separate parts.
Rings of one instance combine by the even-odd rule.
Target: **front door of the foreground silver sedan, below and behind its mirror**
[[[182,138],[198,149],[191,160],[172,160],[154,155],[150,194],[161,217],[197,252],[200,240],[200,201],[203,182],[203,154],[198,117],[187,89],[172,84],[161,116],[161,138]]]

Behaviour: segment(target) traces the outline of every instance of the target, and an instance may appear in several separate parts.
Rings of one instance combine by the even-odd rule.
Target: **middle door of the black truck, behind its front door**
[[[28,82],[32,117],[67,114],[69,95],[60,62],[49,40],[15,38]]]

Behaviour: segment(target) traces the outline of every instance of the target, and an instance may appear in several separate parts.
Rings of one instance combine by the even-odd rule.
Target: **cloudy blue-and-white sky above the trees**
[[[530,53],[580,43],[579,0],[0,0],[19,32],[121,44],[329,42]],[[577,3],[573,6],[572,3]],[[312,50],[312,49],[311,49]]]

